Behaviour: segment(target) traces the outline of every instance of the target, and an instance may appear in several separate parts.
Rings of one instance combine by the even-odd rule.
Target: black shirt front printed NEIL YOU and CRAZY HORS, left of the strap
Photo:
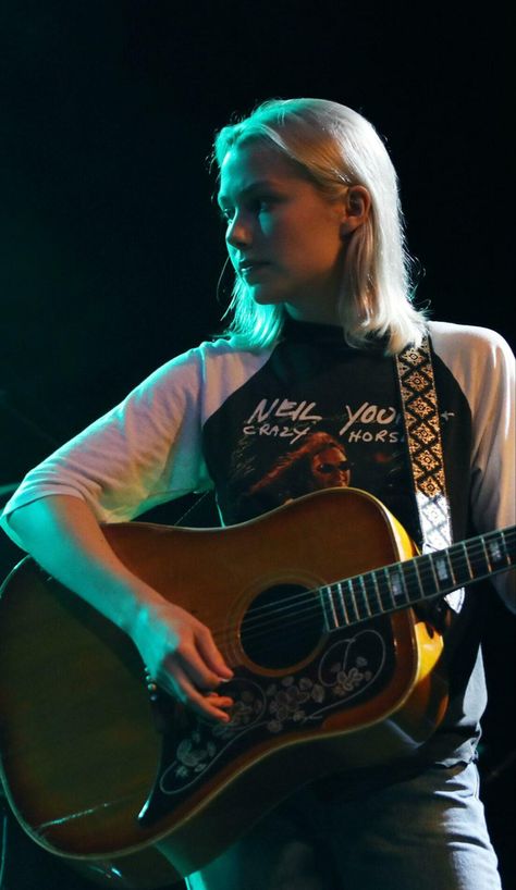
[[[352,485],[382,500],[417,540],[410,486],[400,484],[409,466],[395,363],[381,343],[358,356],[336,329],[317,325],[310,341],[308,326],[316,327],[290,323],[269,361],[205,425],[224,522]]]

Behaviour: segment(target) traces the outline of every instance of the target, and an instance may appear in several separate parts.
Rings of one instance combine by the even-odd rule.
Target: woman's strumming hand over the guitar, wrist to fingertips
[[[165,599],[146,604],[132,638],[156,682],[199,716],[228,722],[233,700],[219,692],[232,670],[211,631],[181,606]]]

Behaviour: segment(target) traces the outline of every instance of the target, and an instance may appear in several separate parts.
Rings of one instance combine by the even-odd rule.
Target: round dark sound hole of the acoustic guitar
[[[322,629],[317,597],[299,584],[279,584],[254,599],[242,623],[241,642],[256,665],[281,669],[310,655]]]

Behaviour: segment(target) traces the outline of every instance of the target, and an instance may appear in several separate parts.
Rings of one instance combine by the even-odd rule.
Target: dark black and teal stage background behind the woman
[[[419,299],[514,347],[509,32],[495,3],[2,3],[0,503],[217,330],[224,248],[207,157],[214,131],[266,98],[330,98],[374,123]],[[2,576],[20,555],[1,539]],[[490,614],[480,766],[509,890],[515,622],[495,597]],[[11,837],[9,890],[75,887]]]

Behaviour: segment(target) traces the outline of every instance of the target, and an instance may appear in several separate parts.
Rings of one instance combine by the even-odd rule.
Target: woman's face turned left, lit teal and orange
[[[224,159],[219,205],[231,262],[257,302],[339,323],[344,198],[328,199],[280,151],[248,141]]]

